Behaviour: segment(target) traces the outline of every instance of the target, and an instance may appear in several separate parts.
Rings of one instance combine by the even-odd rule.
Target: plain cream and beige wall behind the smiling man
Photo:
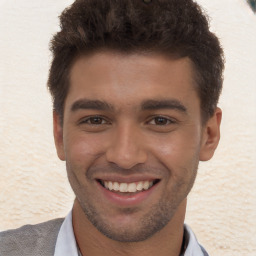
[[[256,15],[198,0],[226,53],[222,139],[201,163],[186,222],[211,256],[256,255]],[[48,43],[71,0],[0,0],[0,230],[63,217],[73,193],[52,137]]]

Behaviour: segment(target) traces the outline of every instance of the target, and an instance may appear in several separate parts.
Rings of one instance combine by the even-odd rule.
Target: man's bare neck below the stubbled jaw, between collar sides
[[[73,228],[83,256],[178,256],[183,240],[186,199],[180,204],[171,221],[149,239],[136,242],[118,242],[100,233],[87,219],[78,201],[73,207]]]

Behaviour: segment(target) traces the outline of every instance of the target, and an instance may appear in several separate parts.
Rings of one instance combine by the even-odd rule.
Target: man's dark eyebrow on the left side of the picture
[[[114,107],[105,101],[81,99],[75,101],[71,106],[71,111],[79,109],[95,109],[95,110],[113,110]]]

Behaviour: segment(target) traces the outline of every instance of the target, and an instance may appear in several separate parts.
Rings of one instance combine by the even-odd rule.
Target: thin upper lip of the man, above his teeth
[[[132,183],[132,182],[140,182],[140,181],[160,180],[159,177],[152,176],[152,175],[121,176],[121,175],[115,175],[115,174],[99,175],[95,179],[102,180],[102,181],[113,181],[113,182],[118,182],[118,183]]]

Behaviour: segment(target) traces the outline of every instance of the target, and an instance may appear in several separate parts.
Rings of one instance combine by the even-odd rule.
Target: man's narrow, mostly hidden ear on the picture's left
[[[54,142],[57,151],[57,155],[60,160],[65,160],[65,151],[63,144],[63,125],[61,122],[60,115],[54,110],[53,111],[53,135]]]

